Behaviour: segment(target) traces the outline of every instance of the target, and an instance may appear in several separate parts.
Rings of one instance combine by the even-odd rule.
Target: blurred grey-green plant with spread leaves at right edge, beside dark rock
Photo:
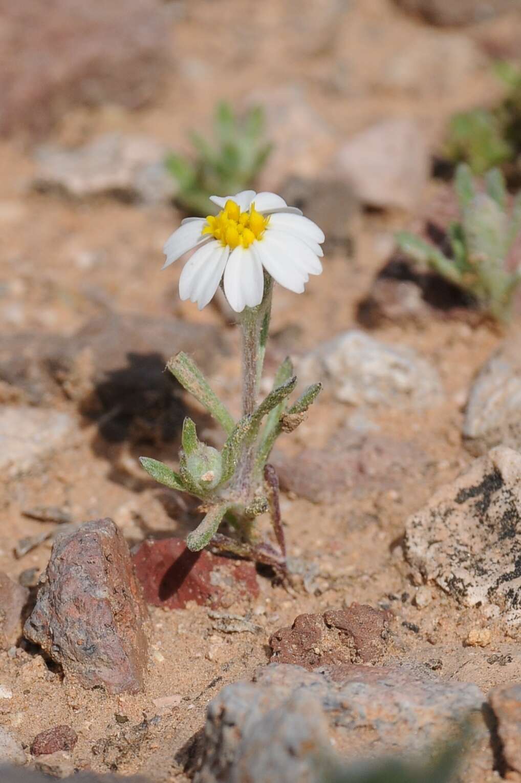
[[[484,193],[476,190],[468,164],[458,166],[455,189],[462,217],[448,228],[448,254],[415,234],[400,232],[396,239],[404,253],[470,294],[483,312],[504,321],[521,281],[521,265],[508,269],[508,255],[521,231],[521,193],[508,210],[505,177],[498,168],[485,175],[485,188]]]

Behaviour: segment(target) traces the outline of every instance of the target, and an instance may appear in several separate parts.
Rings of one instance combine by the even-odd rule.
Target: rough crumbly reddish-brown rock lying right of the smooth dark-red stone
[[[370,606],[324,615],[299,615],[293,626],[271,635],[272,663],[293,663],[304,669],[376,663],[383,657],[389,616]]]

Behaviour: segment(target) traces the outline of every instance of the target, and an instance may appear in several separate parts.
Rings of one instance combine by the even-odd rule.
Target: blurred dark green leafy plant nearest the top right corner
[[[455,114],[444,150],[450,161],[465,161],[476,175],[514,163],[521,154],[521,68],[501,61],[494,71],[507,87],[505,98],[491,109]]]

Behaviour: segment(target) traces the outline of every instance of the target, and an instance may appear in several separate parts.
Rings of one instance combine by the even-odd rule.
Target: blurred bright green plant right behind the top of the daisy
[[[272,144],[265,140],[261,106],[239,118],[228,103],[217,104],[214,137],[212,144],[192,132],[194,159],[170,153],[166,160],[168,171],[178,181],[179,206],[202,217],[208,214],[210,196],[249,188],[272,149]]]

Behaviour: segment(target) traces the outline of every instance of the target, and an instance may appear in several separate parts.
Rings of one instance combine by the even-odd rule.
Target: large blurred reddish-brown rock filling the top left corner
[[[102,0],[2,0],[0,16],[0,135],[41,135],[78,104],[142,106],[169,65],[165,13],[153,0],[128,0],[124,16]]]

